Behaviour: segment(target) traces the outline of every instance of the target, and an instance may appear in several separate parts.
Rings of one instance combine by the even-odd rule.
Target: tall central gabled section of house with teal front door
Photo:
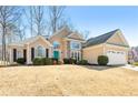
[[[65,58],[73,58],[77,61],[81,60],[85,40],[78,32],[72,32],[65,27],[50,38],[50,42],[53,45],[53,58],[61,61]]]

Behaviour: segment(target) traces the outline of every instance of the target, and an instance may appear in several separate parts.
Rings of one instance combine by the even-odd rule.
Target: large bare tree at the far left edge
[[[2,61],[6,61],[6,34],[20,17],[19,9],[12,6],[0,6],[0,25],[2,30]]]

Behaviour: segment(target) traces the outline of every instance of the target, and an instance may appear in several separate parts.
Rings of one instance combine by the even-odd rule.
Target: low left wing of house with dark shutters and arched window
[[[37,35],[8,45],[9,61],[13,64],[18,58],[23,58],[31,64],[34,58],[52,58],[52,44],[43,37]]]

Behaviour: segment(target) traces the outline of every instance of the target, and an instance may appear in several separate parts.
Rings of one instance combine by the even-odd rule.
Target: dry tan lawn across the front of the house
[[[121,68],[97,71],[93,68],[1,68],[0,95],[138,95],[138,72]]]

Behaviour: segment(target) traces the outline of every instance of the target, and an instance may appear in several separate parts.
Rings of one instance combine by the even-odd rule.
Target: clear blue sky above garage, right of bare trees
[[[66,14],[89,38],[120,29],[131,47],[138,45],[138,7],[67,7]]]

